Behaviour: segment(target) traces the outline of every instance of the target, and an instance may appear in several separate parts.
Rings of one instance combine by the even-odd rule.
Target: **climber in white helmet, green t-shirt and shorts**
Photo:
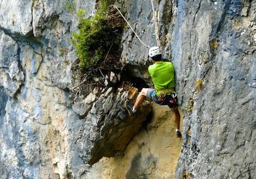
[[[125,101],[125,108],[130,116],[134,116],[143,101],[149,99],[158,105],[168,105],[173,110],[173,119],[176,124],[176,137],[181,138],[180,132],[180,113],[178,110],[178,98],[174,91],[175,77],[174,67],[171,62],[163,62],[162,54],[158,47],[152,47],[149,49],[150,59],[153,61],[153,65],[148,67],[149,74],[154,83],[155,89],[143,88],[139,93],[134,106],[128,104],[128,100]]]

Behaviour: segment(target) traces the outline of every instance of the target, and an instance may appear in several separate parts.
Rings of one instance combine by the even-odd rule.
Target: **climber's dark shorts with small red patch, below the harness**
[[[179,106],[179,102],[178,102],[178,97],[176,96],[175,99],[176,101],[174,103],[172,103],[172,96],[171,95],[166,95],[165,97],[163,97],[162,101],[158,100],[158,96],[155,95],[155,89],[148,89],[147,90],[147,99],[149,99],[150,101],[154,100],[155,103],[157,103],[158,105],[168,105],[170,108],[174,108],[176,106]]]

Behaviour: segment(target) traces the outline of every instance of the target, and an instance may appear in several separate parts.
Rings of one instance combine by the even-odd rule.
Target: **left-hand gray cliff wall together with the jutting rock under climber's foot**
[[[81,178],[90,170],[87,163],[124,150],[150,111],[142,108],[136,122],[128,119],[127,92],[116,87],[95,89],[72,104],[69,92],[80,82],[70,39],[78,22],[65,2],[1,1],[0,168],[5,178]],[[95,11],[95,1],[74,2],[87,17]],[[106,86],[118,79],[109,73]],[[132,99],[134,94],[135,89]]]

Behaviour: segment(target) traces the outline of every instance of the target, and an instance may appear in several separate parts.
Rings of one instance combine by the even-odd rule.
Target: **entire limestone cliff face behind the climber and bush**
[[[75,2],[76,10],[94,14],[96,0]],[[123,106],[127,91],[109,85],[71,104],[69,92],[79,81],[70,38],[78,22],[65,2],[0,0],[1,178],[256,175],[256,1],[159,0],[154,5],[160,48],[176,69],[185,115],[175,177],[180,141],[173,140],[168,109],[153,106],[160,113],[146,120],[145,104],[143,115],[129,118]],[[121,10],[141,40],[156,46],[151,2],[124,0]],[[130,74],[152,85],[148,48],[128,26],[121,44]],[[104,79],[114,84],[110,74]],[[134,101],[136,94],[128,95]]]

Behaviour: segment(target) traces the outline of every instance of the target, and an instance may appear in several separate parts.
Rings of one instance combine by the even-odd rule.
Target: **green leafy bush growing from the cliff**
[[[78,33],[72,33],[72,42],[75,43],[76,54],[80,59],[80,70],[84,71],[104,61],[109,48],[112,46],[113,26],[108,24],[106,10],[113,0],[102,0],[94,17],[85,18],[85,11],[80,9],[77,13],[79,24]]]

